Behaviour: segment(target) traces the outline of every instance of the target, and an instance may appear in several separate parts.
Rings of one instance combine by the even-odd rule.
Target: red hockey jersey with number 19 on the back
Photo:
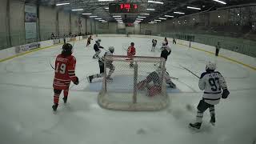
[[[76,82],[75,76],[76,59],[73,55],[63,56],[58,54],[55,60],[54,89],[66,90],[70,86],[70,81]]]

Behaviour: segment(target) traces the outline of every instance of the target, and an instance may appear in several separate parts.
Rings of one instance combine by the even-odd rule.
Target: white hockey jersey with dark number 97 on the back
[[[202,99],[210,105],[218,104],[222,90],[227,89],[225,79],[218,71],[202,73],[198,86],[200,90],[204,90]]]

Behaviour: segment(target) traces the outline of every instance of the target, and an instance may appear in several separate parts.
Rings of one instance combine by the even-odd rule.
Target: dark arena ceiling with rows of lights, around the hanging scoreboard
[[[58,10],[74,10],[83,9],[82,11],[72,11],[76,14],[91,13],[92,15],[97,15],[98,18],[102,18],[108,22],[116,22],[113,18],[114,15],[121,15],[122,20],[125,22],[134,22],[138,15],[145,16],[142,22],[150,22],[156,18],[166,18],[165,15],[174,16],[178,18],[188,14],[194,14],[203,11],[218,10],[220,8],[230,7],[230,6],[243,6],[243,5],[254,5],[256,6],[255,0],[221,0],[226,2],[222,4],[220,2],[214,2],[214,0],[152,0],[157,2],[163,2],[163,4],[150,3],[148,0],[114,0],[114,2],[134,2],[138,3],[143,8],[154,9],[145,10],[138,14],[110,14],[107,7],[110,2],[99,2],[99,0],[22,0],[25,2],[34,2],[42,6],[55,6],[57,3],[70,3],[65,6],[58,6]],[[197,7],[201,10],[188,9],[187,6]],[[174,14],[175,11],[182,12],[185,14]],[[142,15],[143,13],[149,15]],[[89,15],[82,15],[83,17],[89,17]],[[170,19],[170,18],[167,18]]]

